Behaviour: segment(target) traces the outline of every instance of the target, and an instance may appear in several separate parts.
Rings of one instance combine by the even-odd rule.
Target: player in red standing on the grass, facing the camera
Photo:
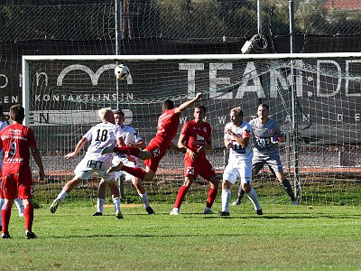
[[[198,175],[210,182],[210,189],[208,192],[208,200],[204,214],[213,214],[211,210],[213,202],[216,199],[218,192],[219,181],[217,175],[208,162],[206,151],[212,147],[212,128],[203,121],[206,114],[206,107],[196,106],[194,108],[194,120],[186,122],[181,128],[180,139],[178,146],[186,148],[187,153],[184,157],[184,184],[180,187],[177,195],[177,200],[174,203],[174,208],[171,210],[171,215],[180,214],[180,205],[184,200],[186,193],[190,190],[192,182],[196,181]]]

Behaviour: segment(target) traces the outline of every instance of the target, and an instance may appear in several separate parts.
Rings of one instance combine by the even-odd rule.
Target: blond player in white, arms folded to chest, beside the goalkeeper
[[[231,187],[236,182],[236,179],[241,180],[242,189],[248,194],[248,198],[252,203],[254,203],[256,214],[263,215],[257,193],[251,187],[253,150],[250,139],[252,127],[243,120],[243,110],[241,107],[232,108],[230,117],[231,122],[225,126],[224,140],[227,149],[229,149],[229,159],[223,173],[222,211],[220,216],[229,216]]]

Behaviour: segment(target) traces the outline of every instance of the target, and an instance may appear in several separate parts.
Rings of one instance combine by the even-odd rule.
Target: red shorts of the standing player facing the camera
[[[207,181],[216,175],[213,166],[208,162],[207,158],[192,160],[190,157],[184,159],[184,176],[197,179],[198,175]]]

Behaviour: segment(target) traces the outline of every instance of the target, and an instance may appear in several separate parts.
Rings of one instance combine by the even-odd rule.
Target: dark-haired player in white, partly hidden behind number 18
[[[128,146],[134,146],[140,149],[143,149],[145,147],[145,143],[143,142],[143,139],[141,136],[136,133],[134,130],[134,127],[132,126],[125,126],[125,114],[123,111],[116,110],[114,112],[114,118],[116,120],[116,125],[121,126],[122,130],[124,132],[123,134],[123,140],[125,142],[125,145]],[[134,156],[125,156],[125,154],[114,154],[113,158],[113,164],[119,164],[119,162],[123,162],[126,166],[136,167],[137,162],[136,158]],[[136,191],[138,192],[139,196],[141,197],[141,200],[144,204],[144,208],[147,211],[148,214],[155,214],[153,208],[149,205],[148,195],[145,192],[145,189],[143,187],[143,182],[140,178],[134,177],[130,173],[126,172],[116,172],[116,180],[118,180],[123,174],[125,174],[125,181],[132,181],[134,184],[134,187]],[[97,193],[97,212],[94,214],[94,216],[101,216],[103,215],[103,206],[104,202],[106,201],[106,182],[102,179],[102,181],[99,183],[99,190]]]

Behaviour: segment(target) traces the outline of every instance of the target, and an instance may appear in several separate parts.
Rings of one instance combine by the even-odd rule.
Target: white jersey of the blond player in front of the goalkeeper
[[[243,122],[240,126],[235,126],[233,123],[227,123],[225,126],[225,131],[230,129],[236,135],[243,135],[245,131],[251,133],[252,126],[247,122]],[[233,135],[229,135],[225,133],[225,139],[230,140],[232,142],[232,148],[229,149],[229,162],[233,161],[246,161],[253,156],[252,145],[248,144],[245,148],[239,145]]]

